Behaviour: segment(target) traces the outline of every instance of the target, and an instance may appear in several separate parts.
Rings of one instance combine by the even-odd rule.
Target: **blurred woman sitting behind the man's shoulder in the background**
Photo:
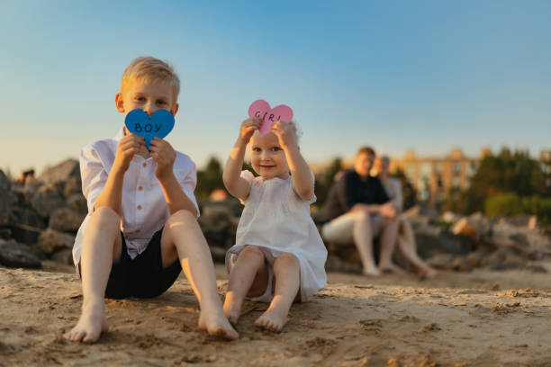
[[[437,271],[431,268],[419,257],[419,255],[417,255],[417,244],[415,243],[415,235],[413,234],[411,223],[402,214],[402,184],[398,179],[389,175],[389,167],[389,157],[382,156],[375,158],[375,165],[373,167],[375,175],[379,178],[379,181],[383,183],[384,191],[393,202],[394,208],[398,213],[397,248],[419,273],[428,278],[432,278],[437,274]]]

